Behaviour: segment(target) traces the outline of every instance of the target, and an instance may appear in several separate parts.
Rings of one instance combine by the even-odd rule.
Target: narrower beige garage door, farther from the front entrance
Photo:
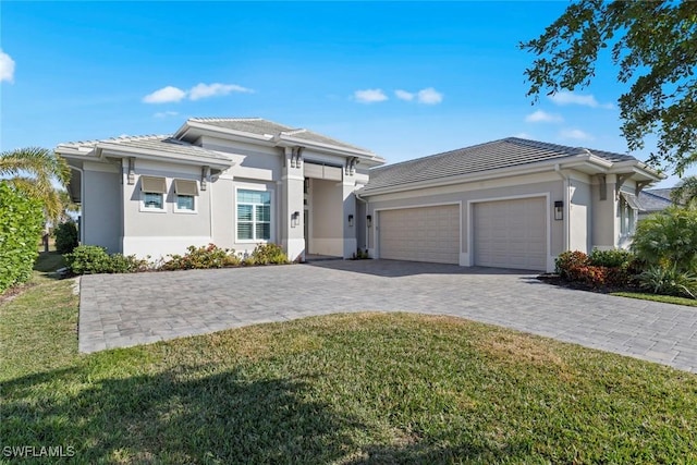
[[[474,204],[475,265],[545,270],[546,218],[543,197]]]

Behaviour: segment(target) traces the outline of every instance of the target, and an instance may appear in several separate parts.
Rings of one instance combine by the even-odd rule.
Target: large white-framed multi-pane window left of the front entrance
[[[237,241],[271,240],[271,193],[237,191]]]

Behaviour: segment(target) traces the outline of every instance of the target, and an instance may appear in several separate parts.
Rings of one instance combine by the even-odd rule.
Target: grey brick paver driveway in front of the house
[[[391,260],[86,276],[80,351],[347,311],[453,315],[697,372],[697,308],[573,291],[534,273]]]

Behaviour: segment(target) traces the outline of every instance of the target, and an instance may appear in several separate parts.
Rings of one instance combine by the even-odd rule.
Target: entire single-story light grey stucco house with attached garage
[[[81,242],[166,257],[215,243],[308,255],[527,270],[625,247],[661,175],[621,154],[505,138],[382,166],[376,154],[262,119],[187,120],[167,136],[60,144]]]

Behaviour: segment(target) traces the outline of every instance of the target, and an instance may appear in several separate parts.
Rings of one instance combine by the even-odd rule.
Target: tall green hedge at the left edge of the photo
[[[41,204],[0,182],[0,293],[32,278],[42,230]]]

